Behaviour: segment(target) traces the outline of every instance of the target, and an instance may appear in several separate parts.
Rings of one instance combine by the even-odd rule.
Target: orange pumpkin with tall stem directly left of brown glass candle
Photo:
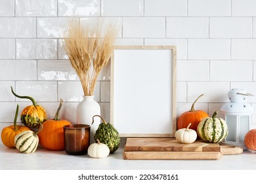
[[[58,113],[62,107],[62,99],[53,120],[43,122],[43,128],[38,133],[39,143],[48,150],[64,150],[64,125],[71,124],[67,120],[60,120]]]

